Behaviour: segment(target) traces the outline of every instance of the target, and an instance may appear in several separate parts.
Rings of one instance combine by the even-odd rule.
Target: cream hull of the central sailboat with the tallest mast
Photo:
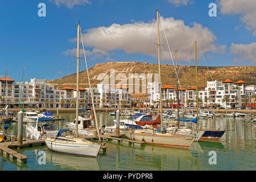
[[[139,133],[141,132],[141,133]],[[143,130],[125,132],[125,136],[129,139],[135,139],[138,141],[144,140],[148,144],[156,144],[159,146],[189,148],[194,142],[195,138],[184,135],[171,135],[171,134],[148,134],[143,133]]]

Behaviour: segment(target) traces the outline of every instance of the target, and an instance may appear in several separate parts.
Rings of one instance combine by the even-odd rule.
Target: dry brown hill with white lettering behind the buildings
[[[207,86],[207,81],[212,81],[212,79],[218,81],[224,81],[226,79],[232,81],[243,80],[247,82],[247,85],[256,85],[256,66],[208,68],[209,72],[207,67],[197,67],[199,88],[204,88]],[[146,77],[150,75],[150,73],[153,73],[152,81],[154,81],[154,73],[158,73],[158,64],[139,63],[135,61],[96,64],[94,67],[89,69],[92,87],[97,87],[97,84],[102,81],[102,78],[109,77],[110,69],[115,70],[115,77],[117,77],[118,73],[123,73],[127,78],[129,78],[129,74],[131,73],[138,73],[139,75],[144,73]],[[105,73],[106,75],[104,76],[102,73]],[[191,86],[195,86],[195,66],[179,66],[178,75],[182,88],[187,89]],[[86,71],[81,71],[79,76],[80,86],[83,88],[88,88],[89,84]],[[212,78],[210,76],[212,76]],[[176,87],[176,74],[174,66],[162,64],[161,78],[163,85],[171,85]],[[115,84],[118,82],[119,80],[115,78]],[[47,84],[55,85],[56,88],[63,88],[64,86],[71,86],[72,88],[76,88],[76,74],[64,76],[56,80],[47,81]]]

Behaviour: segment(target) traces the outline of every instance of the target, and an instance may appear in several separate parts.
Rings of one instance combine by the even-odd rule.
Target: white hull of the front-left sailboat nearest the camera
[[[90,156],[96,158],[100,150],[100,144],[76,144],[67,142],[56,142],[47,138],[46,145],[50,150],[72,155]]]

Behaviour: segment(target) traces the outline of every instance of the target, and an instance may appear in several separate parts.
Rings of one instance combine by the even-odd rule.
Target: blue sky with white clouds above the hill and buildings
[[[46,16],[38,15],[39,3]],[[210,3],[217,16],[209,16]],[[17,82],[24,66],[26,81],[76,73],[79,22],[88,68],[109,61],[158,64],[156,9],[162,64],[173,64],[177,50],[179,65],[195,65],[197,41],[198,65],[256,65],[255,0],[2,0],[0,7],[0,77],[7,67]]]

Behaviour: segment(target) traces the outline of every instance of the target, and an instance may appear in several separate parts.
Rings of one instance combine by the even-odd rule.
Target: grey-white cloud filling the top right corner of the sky
[[[255,0],[219,0],[222,14],[240,14],[246,28],[256,36],[256,1]]]

